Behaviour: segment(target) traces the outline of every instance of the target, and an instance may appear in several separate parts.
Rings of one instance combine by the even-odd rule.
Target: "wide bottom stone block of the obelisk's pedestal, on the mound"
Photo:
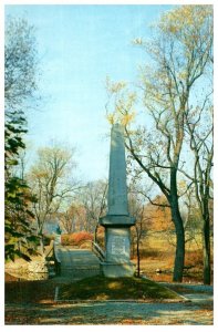
[[[135,264],[132,262],[101,262],[101,270],[104,277],[107,278],[133,277]]]

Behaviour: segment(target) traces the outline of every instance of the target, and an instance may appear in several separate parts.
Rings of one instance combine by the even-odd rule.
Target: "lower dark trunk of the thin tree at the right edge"
[[[204,284],[210,284],[209,216],[204,218],[204,226],[203,226],[203,259],[204,259]]]

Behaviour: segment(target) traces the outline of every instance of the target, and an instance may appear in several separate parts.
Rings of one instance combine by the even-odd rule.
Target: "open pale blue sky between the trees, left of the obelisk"
[[[145,54],[133,46],[149,38],[149,24],[172,6],[6,6],[37,28],[40,94],[29,113],[32,154],[51,139],[76,147],[84,180],[107,177],[108,131],[105,79],[133,82]]]

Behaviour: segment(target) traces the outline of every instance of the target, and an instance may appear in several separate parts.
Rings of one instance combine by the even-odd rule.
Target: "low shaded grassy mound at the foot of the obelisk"
[[[176,300],[183,298],[160,284],[139,278],[95,276],[62,286],[59,300]]]

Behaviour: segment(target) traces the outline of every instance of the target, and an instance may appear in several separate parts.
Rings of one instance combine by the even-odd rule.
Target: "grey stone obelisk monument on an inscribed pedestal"
[[[114,124],[111,132],[107,214],[100,219],[105,228],[106,257],[102,262],[105,277],[132,277],[131,226],[135,219],[128,214],[124,129]]]

